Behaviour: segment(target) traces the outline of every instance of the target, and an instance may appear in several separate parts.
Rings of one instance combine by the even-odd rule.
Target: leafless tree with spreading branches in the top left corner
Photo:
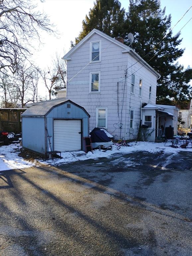
[[[40,30],[53,32],[47,15],[36,9],[33,0],[0,0],[1,72],[16,72],[19,59],[30,55],[32,39],[41,41]]]

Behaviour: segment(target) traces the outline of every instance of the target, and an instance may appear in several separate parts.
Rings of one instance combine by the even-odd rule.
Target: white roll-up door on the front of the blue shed
[[[81,120],[54,120],[54,150],[81,150]]]

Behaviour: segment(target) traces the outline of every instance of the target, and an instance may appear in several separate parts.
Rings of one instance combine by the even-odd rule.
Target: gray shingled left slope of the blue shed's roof
[[[54,106],[65,102],[63,98],[55,100],[49,100],[45,102],[41,102],[38,105],[28,108],[21,116],[45,116],[46,113]]]

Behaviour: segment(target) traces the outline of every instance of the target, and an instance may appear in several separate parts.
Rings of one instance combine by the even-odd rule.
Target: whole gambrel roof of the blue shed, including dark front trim
[[[83,109],[83,111],[90,117],[89,113],[80,105],[74,103],[71,100],[63,100],[62,98],[60,100],[54,101],[54,100],[49,100],[49,101],[45,101],[45,102],[41,102],[38,105],[32,106],[30,108],[28,108],[21,116],[22,117],[33,117],[33,116],[39,116],[39,117],[43,117],[46,114],[48,114],[48,112],[56,107],[59,106],[60,104],[66,103],[66,102],[70,102],[73,105]]]

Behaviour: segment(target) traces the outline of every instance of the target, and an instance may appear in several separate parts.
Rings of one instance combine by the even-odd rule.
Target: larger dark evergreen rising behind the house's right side
[[[160,1],[130,0],[126,27],[125,39],[129,32],[133,33],[134,50],[161,75],[157,81],[157,103],[171,104],[171,101],[191,98],[188,83],[192,79],[192,69],[185,70],[176,62],[184,52],[184,49],[179,49],[182,39],[179,39],[180,33],[173,36],[169,32],[171,16],[165,15],[165,8],[161,10]]]

